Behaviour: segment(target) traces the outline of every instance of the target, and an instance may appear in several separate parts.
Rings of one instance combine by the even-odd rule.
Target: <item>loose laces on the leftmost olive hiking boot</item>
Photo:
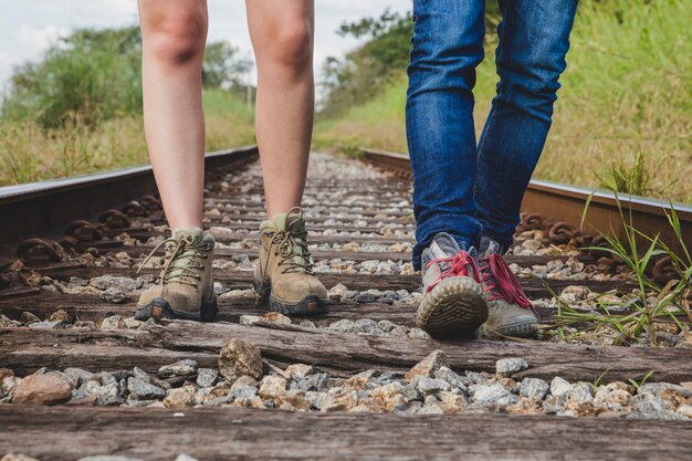
[[[198,282],[202,280],[199,271],[205,270],[202,260],[209,258],[209,251],[211,247],[209,243],[195,244],[192,239],[174,239],[169,238],[156,245],[154,250],[145,258],[144,262],[137,270],[137,273],[146,265],[147,262],[156,254],[156,252],[164,247],[166,253],[164,256],[161,273],[159,275],[159,283],[161,286],[166,286],[169,283],[176,282],[184,285],[198,286]],[[187,259],[188,262],[185,266],[176,266],[174,263],[181,259]]]

